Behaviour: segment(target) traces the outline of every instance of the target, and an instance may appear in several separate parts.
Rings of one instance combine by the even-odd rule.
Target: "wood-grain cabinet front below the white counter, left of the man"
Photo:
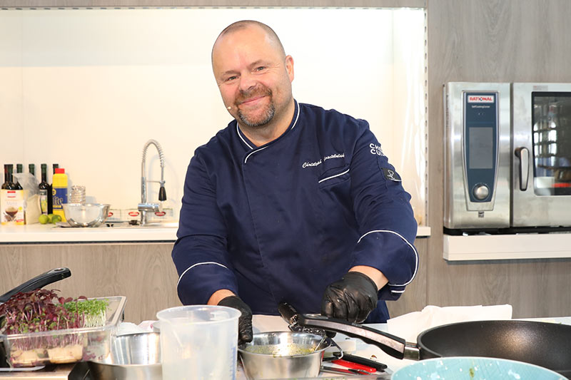
[[[125,319],[139,323],[180,306],[172,243],[0,245],[0,292],[46,270],[69,267],[71,277],[48,285],[65,297],[126,296]]]

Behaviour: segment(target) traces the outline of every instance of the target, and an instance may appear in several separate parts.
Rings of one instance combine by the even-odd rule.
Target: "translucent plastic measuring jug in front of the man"
[[[211,305],[158,312],[163,380],[235,380],[240,315]]]

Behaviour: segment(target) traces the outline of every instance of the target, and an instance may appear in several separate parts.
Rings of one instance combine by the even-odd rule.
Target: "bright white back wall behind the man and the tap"
[[[193,151],[231,120],[210,53],[240,19],[281,37],[298,101],[369,121],[423,215],[420,10],[0,11],[0,163],[59,163],[97,202],[131,208],[140,200],[141,149],[153,138],[165,152],[167,205],[178,210]],[[156,179],[152,146],[147,157]]]

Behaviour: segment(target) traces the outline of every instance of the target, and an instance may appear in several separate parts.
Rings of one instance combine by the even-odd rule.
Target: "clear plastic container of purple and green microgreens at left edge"
[[[0,305],[5,316],[0,334],[6,335],[9,364],[103,359],[111,349],[125,303],[123,296],[64,299],[45,289],[14,295]]]

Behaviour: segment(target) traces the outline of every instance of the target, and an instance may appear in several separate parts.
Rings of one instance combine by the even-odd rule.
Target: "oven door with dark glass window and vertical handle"
[[[571,83],[512,83],[513,227],[571,226]]]

